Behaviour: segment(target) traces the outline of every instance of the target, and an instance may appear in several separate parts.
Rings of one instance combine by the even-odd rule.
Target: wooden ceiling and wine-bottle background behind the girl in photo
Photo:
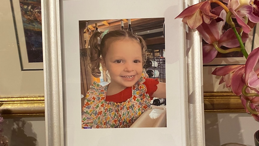
[[[100,32],[105,30],[127,30],[130,21],[130,28],[134,35],[141,36],[147,46],[147,52],[145,55],[146,61],[154,61],[157,66],[145,65],[144,72],[148,74],[148,78],[157,78],[160,82],[166,81],[165,73],[165,38],[164,38],[164,18],[136,18],[136,19],[108,19],[108,20],[80,20],[79,21],[79,51],[80,51],[80,77],[81,77],[81,96],[82,107],[84,107],[84,99],[87,94],[90,85],[94,81],[101,85],[106,85],[109,82],[108,75],[100,67],[100,77],[94,77],[91,75],[91,71],[88,68],[87,62],[87,49],[90,36],[98,29]],[[123,28],[121,28],[123,27]],[[152,76],[153,71],[156,71],[157,75]],[[152,98],[151,103],[155,102]],[[164,100],[164,99],[163,99]],[[164,101],[162,105],[166,105]]]

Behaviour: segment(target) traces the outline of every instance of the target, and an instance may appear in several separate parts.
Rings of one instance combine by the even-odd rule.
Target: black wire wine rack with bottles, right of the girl
[[[166,82],[166,58],[164,56],[165,49],[163,47],[159,49],[148,49],[144,67],[149,78],[158,79],[160,82]],[[157,103],[155,99],[157,98],[154,98],[154,101],[151,101],[151,103]],[[166,99],[161,100],[163,101],[163,104],[160,105],[166,105]]]

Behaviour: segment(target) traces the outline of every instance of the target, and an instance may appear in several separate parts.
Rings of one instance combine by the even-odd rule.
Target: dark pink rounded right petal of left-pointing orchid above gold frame
[[[244,73],[245,67],[241,67],[233,73],[231,78],[231,89],[238,96],[242,94],[242,88],[245,85],[243,80]]]

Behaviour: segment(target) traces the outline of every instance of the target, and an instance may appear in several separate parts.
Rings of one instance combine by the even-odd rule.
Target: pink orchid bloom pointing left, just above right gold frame
[[[231,88],[236,95],[242,94],[242,88],[245,85],[243,75],[245,73],[245,65],[228,65],[217,67],[212,72],[213,75],[222,76],[219,85],[225,82],[227,88]]]

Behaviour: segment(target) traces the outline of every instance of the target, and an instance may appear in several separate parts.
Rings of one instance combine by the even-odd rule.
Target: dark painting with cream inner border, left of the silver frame
[[[10,0],[22,71],[43,70],[41,0]]]

